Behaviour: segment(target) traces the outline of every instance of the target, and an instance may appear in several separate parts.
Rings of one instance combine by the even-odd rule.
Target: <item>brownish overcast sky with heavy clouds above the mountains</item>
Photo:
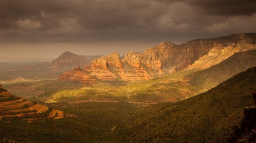
[[[121,56],[256,33],[255,0],[1,0],[0,57]]]

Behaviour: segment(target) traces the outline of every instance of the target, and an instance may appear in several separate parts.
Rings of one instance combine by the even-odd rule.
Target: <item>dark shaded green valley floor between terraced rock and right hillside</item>
[[[0,120],[1,140],[16,142],[118,142],[115,127],[123,127],[138,115],[141,106],[127,102],[48,103],[72,117],[32,123],[12,118]]]

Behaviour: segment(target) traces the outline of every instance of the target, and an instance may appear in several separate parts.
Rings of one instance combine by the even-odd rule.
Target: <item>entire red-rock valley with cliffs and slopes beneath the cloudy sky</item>
[[[226,142],[254,106],[255,33],[87,57],[0,63],[1,141]]]

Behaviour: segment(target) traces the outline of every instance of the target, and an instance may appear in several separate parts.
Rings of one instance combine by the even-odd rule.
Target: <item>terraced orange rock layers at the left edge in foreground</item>
[[[0,85],[0,119],[9,122],[16,116],[26,122],[32,122],[47,118],[61,119],[64,118],[64,112],[51,110],[49,107],[40,105],[39,103],[14,96]]]

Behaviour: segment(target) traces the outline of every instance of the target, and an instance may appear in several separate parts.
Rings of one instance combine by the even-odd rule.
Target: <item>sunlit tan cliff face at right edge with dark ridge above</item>
[[[213,38],[212,48],[200,57],[189,68],[208,68],[231,57],[234,53],[255,50],[255,33],[233,34],[226,37]]]

